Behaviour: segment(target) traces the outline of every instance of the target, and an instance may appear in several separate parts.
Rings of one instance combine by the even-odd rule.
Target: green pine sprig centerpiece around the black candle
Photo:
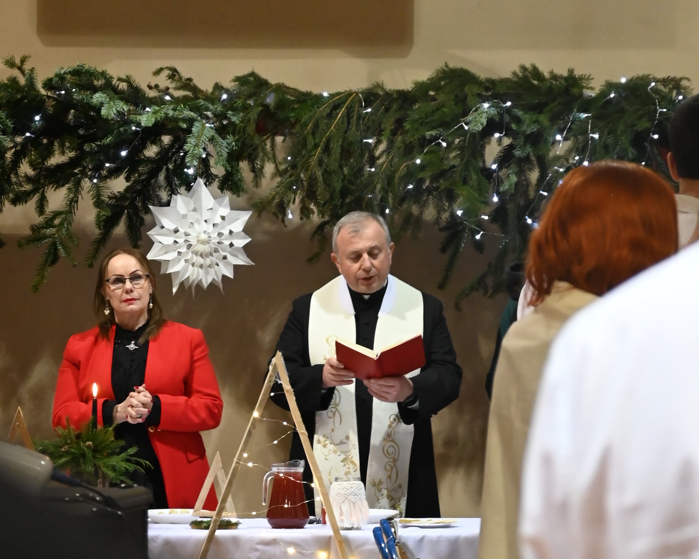
[[[122,441],[114,438],[114,426],[95,428],[92,421],[78,431],[66,421],[57,427],[57,439],[36,441],[34,449],[48,456],[55,467],[85,484],[112,484],[129,481],[127,474],[143,472],[146,460],[134,458],[136,447],[121,451]]]

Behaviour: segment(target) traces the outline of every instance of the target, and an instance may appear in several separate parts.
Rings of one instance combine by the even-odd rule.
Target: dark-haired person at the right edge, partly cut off
[[[677,226],[679,246],[685,247],[699,222],[699,95],[683,101],[672,114],[668,169],[679,184]]]

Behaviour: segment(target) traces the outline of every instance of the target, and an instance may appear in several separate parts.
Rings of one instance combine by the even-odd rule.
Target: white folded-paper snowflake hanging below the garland
[[[167,207],[150,206],[156,226],[148,231],[155,244],[148,259],[172,274],[173,293],[211,282],[223,291],[222,277],[233,277],[233,264],[252,264],[243,247],[250,237],[243,226],[252,212],[231,210],[228,196],[214,200],[201,179],[189,194],[173,196]]]

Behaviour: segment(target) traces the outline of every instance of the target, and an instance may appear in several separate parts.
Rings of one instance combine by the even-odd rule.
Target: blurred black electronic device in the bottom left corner
[[[147,488],[96,488],[0,442],[0,550],[24,558],[147,559]]]

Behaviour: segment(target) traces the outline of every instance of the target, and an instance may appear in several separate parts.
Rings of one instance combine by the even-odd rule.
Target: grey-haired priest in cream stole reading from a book
[[[371,508],[438,517],[430,420],[459,396],[461,368],[442,303],[389,274],[393,250],[380,216],[340,219],[331,254],[340,275],[294,300],[277,349],[326,487],[361,478]],[[361,381],[335,357],[338,338],[379,351],[415,335],[422,335],[426,364],[404,377]],[[271,398],[289,409],[279,382]],[[291,460],[304,458],[294,433]],[[303,475],[312,511],[308,461]]]

